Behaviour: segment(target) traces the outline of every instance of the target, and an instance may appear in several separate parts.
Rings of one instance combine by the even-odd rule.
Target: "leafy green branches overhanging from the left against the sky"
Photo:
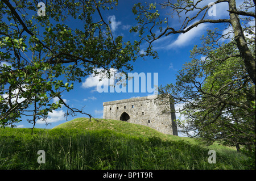
[[[11,125],[22,115],[46,120],[48,112],[64,105],[61,93],[89,74],[133,70],[129,63],[137,44],[114,37],[102,17],[117,1],[46,1],[46,15],[38,15],[37,1],[0,2],[0,122]],[[42,11],[41,11],[42,12]],[[77,22],[79,27],[70,26]],[[53,98],[59,102],[51,103]],[[91,117],[88,113],[88,116]]]

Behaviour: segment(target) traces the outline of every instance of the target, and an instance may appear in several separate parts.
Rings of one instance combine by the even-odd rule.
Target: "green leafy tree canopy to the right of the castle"
[[[185,118],[177,123],[188,136],[199,136],[208,144],[222,141],[238,150],[239,145],[251,148],[255,145],[255,85],[242,58],[235,56],[233,41],[217,43],[214,31],[202,39],[202,47],[193,48],[192,60],[179,71],[176,83],[159,92],[183,105],[179,112]]]

